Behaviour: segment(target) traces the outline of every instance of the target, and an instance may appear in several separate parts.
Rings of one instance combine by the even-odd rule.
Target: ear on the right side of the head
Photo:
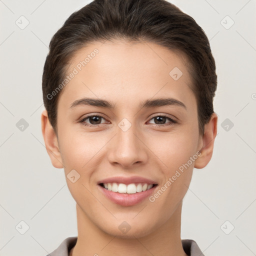
[[[214,139],[217,133],[217,115],[213,113],[208,123],[204,125],[204,134],[202,135],[202,147],[199,148],[201,154],[194,161],[195,168],[205,167],[212,156]]]

